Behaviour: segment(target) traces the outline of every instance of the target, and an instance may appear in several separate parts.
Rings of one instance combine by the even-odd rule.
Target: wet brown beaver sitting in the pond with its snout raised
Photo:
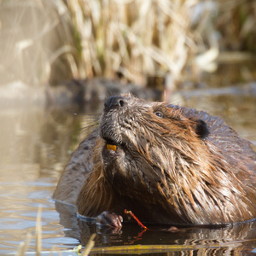
[[[256,218],[256,154],[218,117],[112,96],[54,197],[89,217],[127,208],[160,224],[241,222]],[[108,212],[102,222],[119,225]]]

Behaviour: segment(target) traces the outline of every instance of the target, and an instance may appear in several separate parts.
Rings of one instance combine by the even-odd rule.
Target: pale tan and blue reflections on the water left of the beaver
[[[77,143],[71,132],[79,127],[80,119],[70,114],[60,117],[61,113],[44,109],[0,112],[0,252],[16,250],[27,233],[34,234],[39,205],[43,207],[46,249],[65,241],[72,246],[78,243],[63,240],[51,200],[56,180]]]

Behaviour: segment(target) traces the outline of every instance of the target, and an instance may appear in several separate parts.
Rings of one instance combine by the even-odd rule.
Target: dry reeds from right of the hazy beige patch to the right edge
[[[67,6],[83,78],[122,73],[144,84],[169,73],[177,84],[214,71],[219,49],[256,50],[253,1],[67,0]]]

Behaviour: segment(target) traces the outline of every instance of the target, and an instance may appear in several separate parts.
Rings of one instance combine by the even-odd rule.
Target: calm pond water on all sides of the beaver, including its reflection
[[[237,94],[232,88],[230,93],[206,92],[179,94],[173,103],[222,116],[241,137],[256,145],[256,93]],[[94,109],[94,113],[100,113],[101,108]],[[43,251],[53,246],[66,250],[84,245],[96,232],[96,247],[173,246],[161,247],[159,251],[149,249],[153,253],[150,255],[256,255],[253,222],[218,229],[191,228],[177,233],[142,232],[136,224],[125,224],[122,232],[114,232],[84,222],[67,207],[55,208],[51,195],[70,154],[83,137],[80,130],[83,114],[36,106],[2,108],[0,122],[0,254],[15,253],[28,233],[32,234],[28,251],[35,251],[36,217],[41,206]],[[96,254],[99,253],[92,253]]]

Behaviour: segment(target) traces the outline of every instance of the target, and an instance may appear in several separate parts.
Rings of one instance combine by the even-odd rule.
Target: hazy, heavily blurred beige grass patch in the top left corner
[[[61,0],[0,0],[0,84],[35,87],[53,75],[70,77],[63,61],[64,55],[73,61],[76,52],[70,23]]]

